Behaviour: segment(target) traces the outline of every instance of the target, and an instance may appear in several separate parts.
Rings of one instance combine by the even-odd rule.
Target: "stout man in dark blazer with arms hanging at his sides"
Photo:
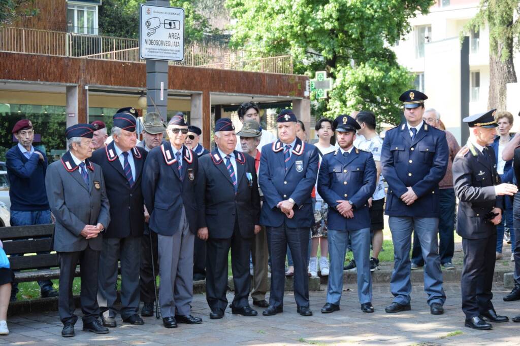
[[[211,155],[200,158],[197,182],[197,195],[202,198],[197,235],[207,240],[206,299],[210,318],[221,319],[227,307],[230,248],[235,284],[231,312],[256,316],[248,301],[251,241],[261,229],[255,160],[235,150],[237,136],[228,118],[216,121],[214,140],[217,146]]]

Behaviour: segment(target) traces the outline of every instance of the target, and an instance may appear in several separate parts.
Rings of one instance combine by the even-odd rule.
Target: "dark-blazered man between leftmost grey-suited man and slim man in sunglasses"
[[[134,110],[135,113],[135,110]],[[136,114],[136,113],[135,113]],[[136,147],[136,118],[126,113],[113,116],[112,138],[92,155],[105,176],[112,222],[103,234],[99,267],[98,303],[103,325],[115,327],[116,282],[121,259],[121,317],[123,322],[143,324],[139,309],[139,261],[145,223],[141,173],[146,150]]]

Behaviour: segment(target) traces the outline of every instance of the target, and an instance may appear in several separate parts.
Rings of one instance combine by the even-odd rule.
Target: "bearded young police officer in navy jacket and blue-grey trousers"
[[[340,310],[343,263],[348,239],[357,265],[361,311],[374,312],[370,275],[370,215],[368,199],[375,191],[375,163],[371,153],[354,147],[358,122],[348,115],[334,120],[339,148],[323,156],[318,193],[329,205],[327,228],[330,252],[327,303],[322,313]]]

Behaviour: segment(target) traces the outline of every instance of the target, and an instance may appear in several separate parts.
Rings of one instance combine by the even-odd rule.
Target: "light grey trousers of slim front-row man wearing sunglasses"
[[[159,253],[159,305],[161,315],[189,315],[193,299],[193,242],[183,210],[180,226],[173,236],[157,235]]]

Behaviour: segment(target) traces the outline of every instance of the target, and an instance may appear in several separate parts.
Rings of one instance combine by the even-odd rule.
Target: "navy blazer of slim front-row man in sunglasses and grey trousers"
[[[179,230],[184,206],[190,231],[197,233],[197,200],[195,187],[199,171],[197,155],[183,145],[182,177],[177,170],[172,145],[163,143],[148,152],[142,175],[142,194],[150,214],[149,227],[162,236],[173,236]]]

